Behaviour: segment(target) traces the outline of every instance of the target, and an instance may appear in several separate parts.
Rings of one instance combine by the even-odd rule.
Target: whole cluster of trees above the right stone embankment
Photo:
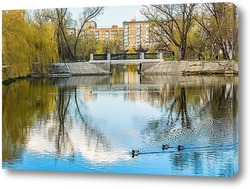
[[[232,3],[144,6],[151,37],[178,60],[238,59],[238,12]]]

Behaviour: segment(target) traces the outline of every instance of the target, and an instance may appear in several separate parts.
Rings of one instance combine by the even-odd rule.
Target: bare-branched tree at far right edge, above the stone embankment
[[[234,59],[238,49],[238,21],[236,7],[232,3],[205,3],[194,17],[207,34],[211,50],[224,59]]]

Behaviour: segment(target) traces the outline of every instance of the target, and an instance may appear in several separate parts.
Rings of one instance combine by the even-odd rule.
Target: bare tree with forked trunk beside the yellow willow
[[[50,20],[56,28],[56,39],[58,45],[58,54],[62,60],[69,58],[77,61],[77,47],[82,39],[85,24],[93,20],[96,16],[101,14],[103,7],[86,7],[83,8],[82,13],[79,15],[79,29],[76,29],[76,21],[71,18],[71,12],[67,8],[56,9],[42,9],[36,12],[36,19],[38,21]],[[40,18],[41,17],[41,18]],[[68,29],[75,28],[74,35],[69,35]]]

